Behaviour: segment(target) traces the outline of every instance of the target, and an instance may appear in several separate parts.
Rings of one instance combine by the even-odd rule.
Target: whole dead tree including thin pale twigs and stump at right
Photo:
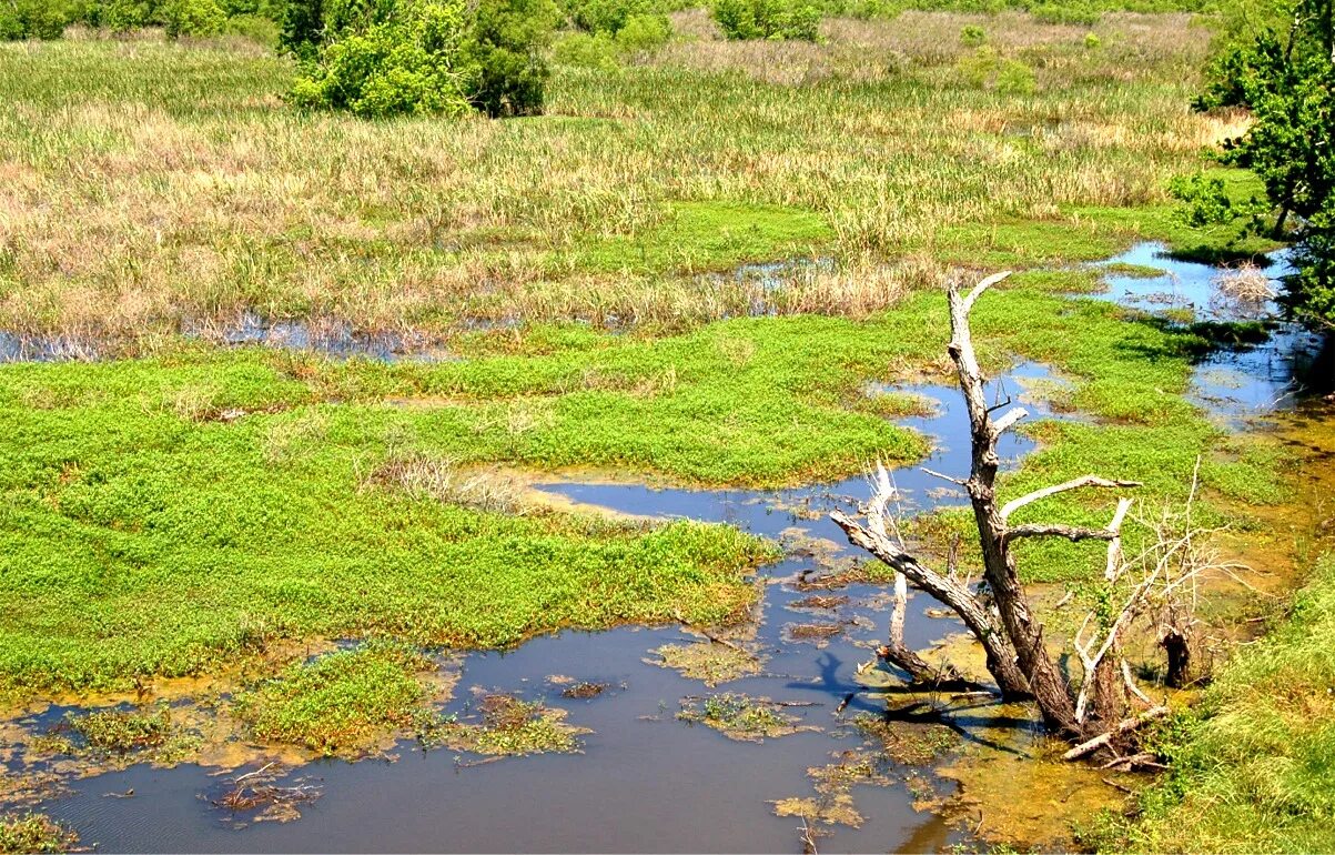
[[[1200,550],[1192,541],[1195,529],[1191,525],[1191,498],[1187,501],[1185,533],[1173,533],[1173,517],[1165,512],[1164,520],[1155,526],[1157,540],[1145,552],[1131,561],[1123,553],[1121,528],[1132,508],[1129,498],[1120,498],[1112,521],[1101,529],[1064,525],[1055,522],[1028,522],[1012,525],[1011,514],[1016,510],[1059,493],[1085,488],[1135,488],[1135,481],[1111,481],[1093,474],[1056,484],[1000,505],[996,494],[1000,456],[997,442],[1001,436],[1027,415],[1024,409],[1012,407],[996,419],[993,410],[1008,405],[988,406],[983,371],[973,351],[969,330],[969,311],[975,301],[1007,274],[989,277],[973,287],[967,295],[956,285],[948,290],[951,306],[951,343],[948,351],[959,374],[960,390],[964,394],[969,413],[972,438],[972,460],[967,480],[929,472],[965,489],[973,508],[973,520],[983,554],[983,578],[991,592],[985,603],[971,590],[968,580],[956,573],[953,558],[948,561],[947,572],[939,573],[924,565],[908,552],[897,526],[888,525],[886,508],[896,490],[884,466],[877,465],[877,480],[873,485],[872,501],[865,508],[868,525],[860,525],[844,512],[830,514],[848,534],[849,541],[861,546],[896,570],[896,608],[890,620],[889,643],[881,648],[881,656],[900,665],[917,681],[932,681],[943,677],[941,669],[933,669],[904,644],[904,612],[906,590],[904,582],[912,581],[937,601],[948,605],[964,621],[969,632],[983,645],[988,657],[988,671],[992,673],[1007,697],[1032,697],[1043,713],[1044,723],[1060,735],[1076,740],[1087,740],[1073,749],[1068,757],[1085,756],[1101,747],[1108,747],[1115,739],[1121,739],[1140,723],[1163,715],[1163,708],[1153,708],[1137,719],[1124,719],[1131,697],[1140,704],[1153,707],[1152,701],[1135,683],[1131,668],[1123,657],[1121,635],[1145,611],[1165,611],[1167,617],[1159,625],[1171,631],[1161,636],[1168,649],[1169,675],[1172,680],[1184,680],[1189,667],[1189,647],[1187,644],[1187,624],[1177,616],[1181,609],[1195,605],[1196,578],[1211,568],[1227,565],[1215,564],[1208,553]],[[1191,497],[1195,497],[1196,482]],[[1072,542],[1100,540],[1108,545],[1104,570],[1105,588],[1101,593],[1111,597],[1125,596],[1116,616],[1109,620],[1103,609],[1092,609],[1080,629],[1071,640],[1080,656],[1083,672],[1080,681],[1072,687],[1057,667],[1056,659],[1048,652],[1044,641],[1043,624],[1031,612],[1024,585],[1016,572],[1015,554],[1011,546],[1021,538],[1061,537]],[[953,556],[953,549],[952,549]],[[1135,584],[1125,584],[1125,570],[1139,568]],[[1183,603],[1181,593],[1191,585],[1191,605]],[[1124,592],[1124,593],[1119,593]],[[955,672],[949,672],[953,675]],[[1089,739],[1095,736],[1095,739]]]

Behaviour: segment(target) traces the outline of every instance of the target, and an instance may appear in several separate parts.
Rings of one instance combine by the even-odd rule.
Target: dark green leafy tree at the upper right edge
[[[1244,107],[1247,132],[1223,158],[1260,176],[1279,208],[1276,236],[1296,238],[1288,302],[1302,319],[1335,325],[1335,0],[1242,4],[1212,67],[1203,110]]]

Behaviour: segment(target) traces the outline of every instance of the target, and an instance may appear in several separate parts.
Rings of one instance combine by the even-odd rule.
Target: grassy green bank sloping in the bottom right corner
[[[1155,852],[1335,850],[1335,556],[1292,612],[1239,648],[1195,709],[1159,735],[1172,771],[1141,794],[1113,848]]]

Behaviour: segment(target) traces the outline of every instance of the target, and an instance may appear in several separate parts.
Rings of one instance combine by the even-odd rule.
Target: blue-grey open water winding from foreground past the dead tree
[[[1137,247],[1112,261],[1163,269],[1160,278],[1109,277],[1108,298],[1135,305],[1161,294],[1206,306],[1218,271],[1173,262],[1156,247]],[[1280,262],[1282,263],[1282,262]],[[1272,339],[1246,353],[1212,357],[1193,383],[1196,399],[1232,423],[1295,401],[1300,386],[1332,382],[1330,354],[1318,342],[1280,326]],[[1323,367],[1324,365],[1324,367]],[[1056,418],[1040,391],[1060,382],[1043,366],[1016,366],[993,383],[995,394],[1023,398],[1032,418]],[[963,474],[968,470],[968,425],[959,393],[947,386],[905,387],[930,398],[934,413],[902,423],[933,437],[926,465]],[[870,387],[868,394],[884,389]],[[1032,450],[1024,438],[1003,446],[1015,466]],[[957,493],[917,465],[894,473],[906,510],[959,504]],[[849,557],[841,532],[826,518],[834,505],[865,498],[860,480],[813,488],[749,490],[651,489],[634,484],[543,485],[577,502],[634,514],[692,517],[726,522],[808,548],[765,570],[764,603],[754,648],[768,656],[765,673],[709,689],[645,660],[663,644],[700,641],[677,628],[622,628],[563,632],[535,639],[511,652],[475,652],[462,657],[462,679],[447,711],[463,711],[478,687],[542,699],[569,711],[569,723],[589,728],[582,753],[539,755],[469,765],[449,749],[421,751],[413,741],[396,761],[319,761],[296,774],[319,779],[323,795],[303,806],[290,823],[238,827],[208,803],[218,779],[211,770],[186,764],[172,770],[131,767],[73,782],[72,794],[43,806],[67,822],[85,844],[101,851],[801,851],[801,820],[780,818],[770,802],[813,795],[809,767],[857,748],[858,732],[846,720],[860,712],[884,713],[886,696],[862,693],[854,669],[872,659],[886,623],[885,589],[852,585],[833,592],[849,601],[832,611],[794,611],[810,592],[797,589],[802,574],[818,576],[830,560]],[[797,537],[801,529],[801,537]],[[809,538],[828,542],[813,554]],[[822,564],[824,562],[824,564]],[[922,648],[957,629],[953,620],[928,616],[933,605],[914,597],[908,612],[908,643]],[[792,639],[793,624],[840,624],[820,644]],[[610,684],[603,695],[574,700],[549,681],[553,675]],[[682,697],[737,692],[794,701],[788,708],[802,724],[821,728],[764,743],[733,741],[713,729],[674,717]],[[848,701],[840,711],[841,703]],[[893,703],[893,701],[892,701]],[[60,711],[48,711],[51,720]],[[965,740],[988,741],[1019,728],[1012,745],[1029,739],[1028,723],[996,715],[987,704],[960,705],[947,719]],[[37,724],[33,720],[33,724]],[[893,786],[856,787],[852,795],[865,823],[837,826],[818,840],[822,851],[932,851],[961,839],[930,810],[914,810],[905,778]],[[134,798],[105,794],[134,790]],[[940,784],[949,792],[949,784]]]

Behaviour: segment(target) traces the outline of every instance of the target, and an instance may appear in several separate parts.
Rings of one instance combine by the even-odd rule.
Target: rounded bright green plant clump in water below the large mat
[[[292,665],[236,696],[236,715],[254,737],[318,753],[362,748],[388,732],[439,727],[431,693],[418,677],[430,659],[413,648],[371,641]]]

